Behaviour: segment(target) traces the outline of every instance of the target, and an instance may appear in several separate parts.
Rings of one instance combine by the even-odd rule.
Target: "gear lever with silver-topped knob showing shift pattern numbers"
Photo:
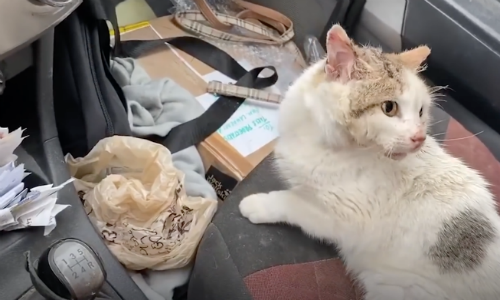
[[[38,293],[50,300],[92,300],[106,282],[101,258],[89,245],[73,238],[45,250],[37,267],[26,252],[26,270]]]

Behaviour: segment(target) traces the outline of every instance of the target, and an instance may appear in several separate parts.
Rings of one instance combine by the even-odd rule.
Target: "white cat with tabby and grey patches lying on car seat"
[[[427,135],[427,46],[383,53],[339,25],[280,105],[288,190],[244,198],[252,223],[336,243],[366,300],[500,299],[500,217],[488,183]]]

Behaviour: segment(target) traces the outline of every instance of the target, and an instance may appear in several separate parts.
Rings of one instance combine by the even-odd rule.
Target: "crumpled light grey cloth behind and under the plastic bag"
[[[168,78],[152,80],[132,58],[115,58],[111,72],[122,87],[128,104],[128,119],[136,136],[166,136],[175,126],[203,113],[203,108],[184,88]],[[217,199],[205,180],[205,169],[195,146],[172,155],[174,166],[185,174],[189,196]],[[173,289],[187,282],[191,267],[178,270],[131,272],[149,300],[171,300]]]

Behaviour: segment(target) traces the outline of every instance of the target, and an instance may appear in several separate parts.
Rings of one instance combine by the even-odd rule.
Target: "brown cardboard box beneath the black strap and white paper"
[[[189,34],[178,28],[170,17],[162,17],[150,21],[150,26],[122,34],[122,40],[151,40],[186,35]],[[235,57],[234,53],[230,54]],[[139,62],[152,78],[172,78],[195,97],[206,93],[207,83],[200,75],[214,71],[196,58],[181,50],[172,50],[167,45],[144,55]],[[273,146],[274,141],[245,157],[222,136],[214,133],[198,146],[198,150],[205,165],[207,180],[214,186],[219,198],[224,200],[234,186],[273,151]]]

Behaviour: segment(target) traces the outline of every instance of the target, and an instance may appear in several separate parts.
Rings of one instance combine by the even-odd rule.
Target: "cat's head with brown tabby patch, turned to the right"
[[[432,98],[417,75],[430,54],[426,46],[399,54],[357,46],[341,26],[328,33],[327,60],[310,99],[323,134],[344,138],[400,159],[425,143]],[[315,103],[312,103],[315,102]],[[319,103],[319,105],[318,105]],[[335,128],[335,129],[333,129]]]

